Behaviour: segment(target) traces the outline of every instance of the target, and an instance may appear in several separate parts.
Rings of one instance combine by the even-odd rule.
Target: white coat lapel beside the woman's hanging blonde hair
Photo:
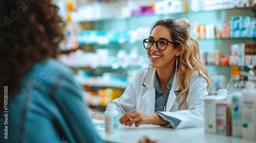
[[[172,89],[170,89],[169,97],[166,103],[166,111],[170,111],[170,109],[173,107],[174,102],[177,98],[176,94],[174,93],[175,91],[179,90],[179,83],[177,81],[179,81],[178,77],[176,77],[176,81],[173,82]]]

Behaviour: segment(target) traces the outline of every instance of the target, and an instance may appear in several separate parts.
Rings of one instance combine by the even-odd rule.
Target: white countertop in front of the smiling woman
[[[231,136],[205,133],[203,128],[172,129],[159,125],[140,125],[127,127],[119,124],[116,133],[105,133],[104,121],[93,120],[100,137],[109,142],[138,142],[143,136],[148,136],[160,142],[196,142],[196,143],[255,143],[256,141],[233,138]]]

